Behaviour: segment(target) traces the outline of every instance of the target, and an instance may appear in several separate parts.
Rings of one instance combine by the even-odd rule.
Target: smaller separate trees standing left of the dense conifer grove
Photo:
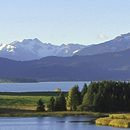
[[[47,104],[47,109],[49,111],[66,111],[67,107],[70,107],[70,110],[75,111],[77,109],[77,106],[82,103],[81,100],[86,92],[86,83],[84,84],[83,90],[81,92],[79,91],[79,86],[75,85],[74,87],[70,88],[70,91],[68,92],[67,101],[63,92],[61,92],[56,99],[53,96],[50,98]],[[36,111],[45,111],[45,105],[41,99],[39,99],[39,101],[37,102]]]

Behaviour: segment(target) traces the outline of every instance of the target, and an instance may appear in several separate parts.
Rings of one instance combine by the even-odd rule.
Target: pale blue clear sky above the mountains
[[[0,43],[99,44],[130,32],[130,0],[0,0]]]

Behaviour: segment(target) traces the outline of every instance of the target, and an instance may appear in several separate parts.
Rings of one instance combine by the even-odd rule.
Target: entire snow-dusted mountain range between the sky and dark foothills
[[[130,33],[121,34],[116,38],[94,45],[42,43],[37,38],[0,44],[0,57],[17,61],[29,61],[47,56],[69,57],[73,55],[95,55],[105,52],[116,52],[130,48]]]

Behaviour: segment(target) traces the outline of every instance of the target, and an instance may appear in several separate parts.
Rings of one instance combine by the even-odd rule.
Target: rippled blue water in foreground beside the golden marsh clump
[[[89,117],[1,117],[0,130],[126,130],[96,126],[85,121]],[[129,129],[129,128],[128,128]]]

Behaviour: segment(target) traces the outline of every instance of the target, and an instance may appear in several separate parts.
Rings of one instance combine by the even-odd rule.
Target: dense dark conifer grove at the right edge
[[[94,111],[130,111],[130,83],[121,81],[91,82],[82,105]]]

